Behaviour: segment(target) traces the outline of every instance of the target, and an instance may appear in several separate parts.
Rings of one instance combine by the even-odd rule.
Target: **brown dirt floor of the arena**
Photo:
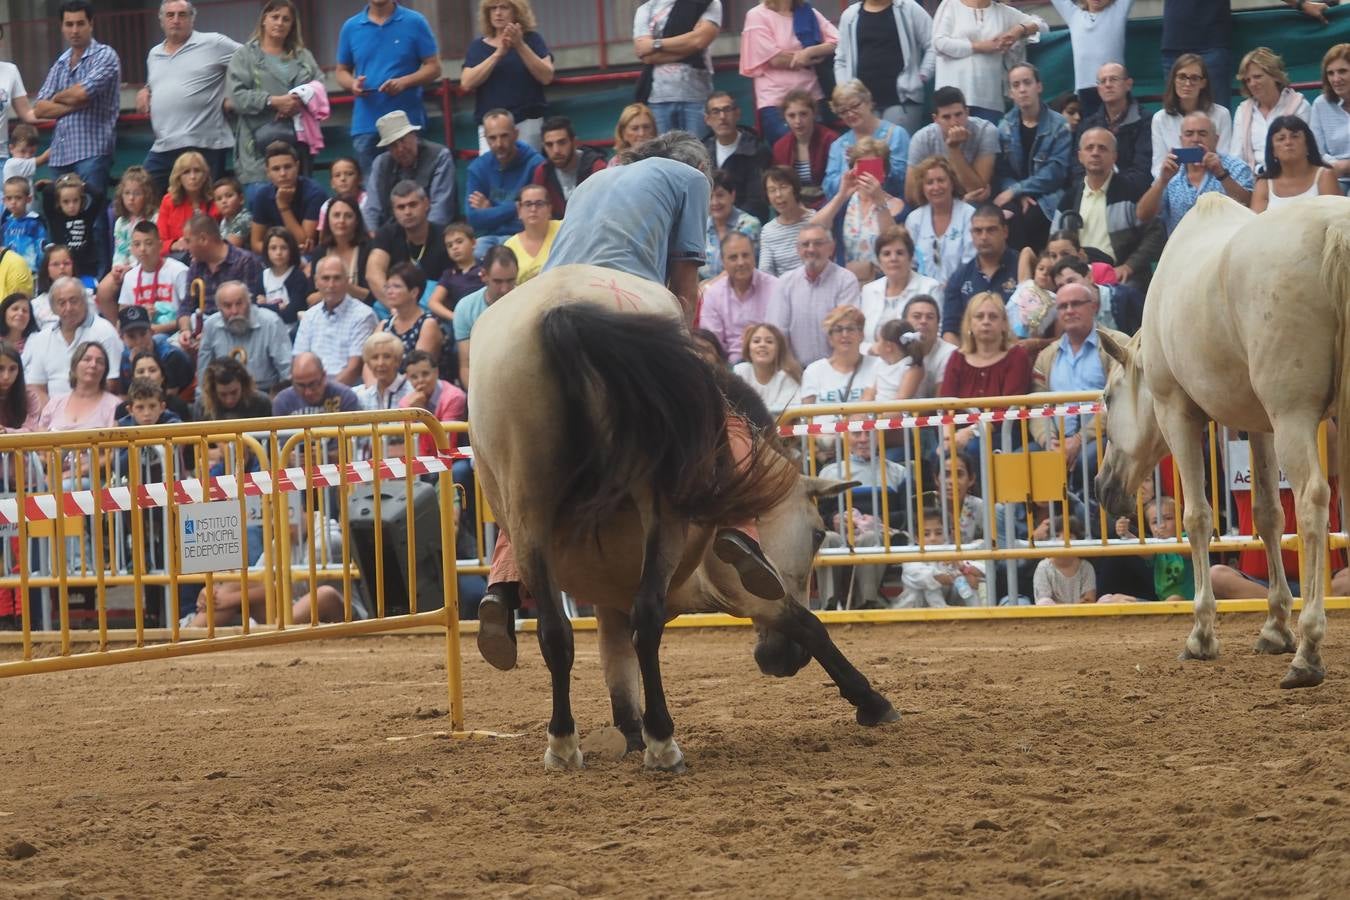
[[[468,725],[510,741],[387,741],[447,727],[435,637],[9,679],[0,895],[1345,897],[1350,615],[1301,692],[1258,622],[1185,665],[1180,617],[836,627],[884,730],[745,629],[668,631],[683,776],[545,775],[532,641],[509,675],[463,644]],[[609,721],[593,633],[574,696]]]

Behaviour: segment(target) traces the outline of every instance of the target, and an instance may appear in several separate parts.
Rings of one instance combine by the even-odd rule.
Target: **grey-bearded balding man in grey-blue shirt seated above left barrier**
[[[197,351],[197,393],[213,359],[238,359],[258,390],[275,393],[290,381],[290,336],[281,316],[254,304],[248,287],[227,281],[216,287],[216,310],[201,328]]]

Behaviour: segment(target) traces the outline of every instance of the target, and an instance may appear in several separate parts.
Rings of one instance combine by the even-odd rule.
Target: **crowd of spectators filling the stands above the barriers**
[[[720,0],[637,7],[643,72],[614,150],[675,128],[703,140],[698,324],[772,409],[1100,389],[1114,363],[1096,327],[1138,327],[1200,194],[1261,212],[1350,185],[1350,45],[1326,51],[1308,104],[1272,49],[1234,70],[1227,3],[1169,1],[1149,111],[1125,65],[1130,0],[1054,5],[1076,92],[1052,103],[1026,61],[1048,24],[1003,3],[942,0],[930,16],[859,0],[836,24],[763,0],[741,23],[745,111],[713,84]],[[424,131],[439,51],[408,7],[370,0],[342,27],[354,155],[325,190],[329,104],[292,0],[266,0],[242,45],[196,30],[189,0],[161,3],[136,99],[154,144],[116,179],[122,63],[93,5],[62,3],[68,49],[32,103],[0,63],[18,119],[0,148],[0,383],[22,363],[5,429],[111,425],[157,378],[180,418],[462,416],[477,317],[540,271],[578,185],[618,159],[549,115],[554,57],[529,0],[478,13],[462,86],[481,154],[459,196],[451,151]],[[1230,109],[1234,77],[1245,99]],[[1072,464],[1095,460],[1091,434],[1075,420],[1033,437]]]

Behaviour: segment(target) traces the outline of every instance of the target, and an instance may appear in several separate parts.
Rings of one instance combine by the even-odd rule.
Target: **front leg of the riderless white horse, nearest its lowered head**
[[[1156,401],[1162,437],[1172,449],[1181,491],[1185,495],[1183,525],[1191,541],[1191,565],[1195,568],[1195,626],[1185,641],[1180,658],[1219,658],[1219,636],[1215,631],[1216,604],[1214,584],[1210,582],[1210,536],[1214,532],[1214,510],[1204,494],[1204,453],[1196,436],[1203,420],[1189,409],[1172,409]]]

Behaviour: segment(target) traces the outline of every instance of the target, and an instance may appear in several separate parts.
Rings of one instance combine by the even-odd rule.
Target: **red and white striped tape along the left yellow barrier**
[[[435,475],[448,471],[458,459],[473,459],[470,448],[452,449],[436,456],[414,456],[409,470],[408,459],[402,456],[379,460],[379,478],[400,480],[409,475]],[[375,480],[375,464],[371,460],[347,463],[346,466],[315,466],[308,472],[304,467],[284,468],[273,478],[271,472],[247,472],[243,478],[244,497],[266,497],[288,494],[309,487],[338,487],[339,484],[366,484]],[[94,513],[130,513],[134,509],[159,509],[169,503],[201,503],[207,501],[239,499],[239,482],[234,475],[208,478],[205,482],[188,478],[173,484],[139,484],[132,495],[131,487],[105,487],[96,495],[93,491],[69,491],[61,495],[63,515],[93,515]],[[45,522],[57,518],[55,494],[30,494],[23,498],[20,515],[18,498],[0,499],[0,525],[18,525],[23,518],[28,522]]]

